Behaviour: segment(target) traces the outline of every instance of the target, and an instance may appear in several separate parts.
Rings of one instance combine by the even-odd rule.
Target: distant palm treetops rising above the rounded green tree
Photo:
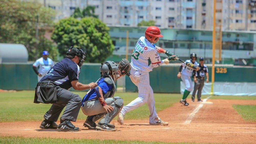
[[[87,6],[85,7],[82,12],[80,11],[80,8],[77,7],[74,10],[74,13],[71,15],[71,17],[74,18],[83,18],[83,17],[97,17],[95,14],[95,6]]]

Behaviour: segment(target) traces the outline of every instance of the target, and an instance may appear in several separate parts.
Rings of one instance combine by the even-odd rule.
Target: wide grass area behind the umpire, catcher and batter
[[[80,97],[86,92],[74,91]],[[34,104],[34,91],[0,92],[0,122],[6,121],[41,121],[51,104]],[[137,98],[138,93],[116,92],[115,96],[124,99],[124,105]],[[171,107],[181,98],[180,94],[154,94],[156,111]],[[147,119],[150,115],[147,105],[127,112],[125,119]],[[78,120],[85,120],[86,115],[80,110]],[[117,118],[115,118],[117,119]]]

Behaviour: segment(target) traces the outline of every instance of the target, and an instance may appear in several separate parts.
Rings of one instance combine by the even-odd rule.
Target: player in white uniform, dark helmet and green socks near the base
[[[190,54],[190,59],[186,60],[189,63],[192,63],[194,65],[197,65],[196,62],[196,53]],[[180,100],[180,103],[183,104],[184,106],[188,106],[189,104],[186,101],[186,98],[188,97],[189,93],[193,90],[193,85],[192,85],[192,80],[191,76],[193,73],[193,69],[186,66],[184,63],[179,68],[179,73],[177,74],[177,77],[182,79],[184,85],[186,86],[185,91],[183,93],[183,97]]]

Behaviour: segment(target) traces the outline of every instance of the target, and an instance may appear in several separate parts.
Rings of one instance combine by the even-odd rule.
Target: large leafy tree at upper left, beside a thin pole
[[[36,15],[39,18],[38,47],[35,37]],[[29,60],[36,60],[41,57],[41,50],[48,50],[52,52],[52,55],[57,55],[58,51],[54,50],[53,42],[44,37],[45,27],[51,26],[54,16],[54,10],[42,7],[38,3],[0,0],[0,42],[25,45]],[[52,58],[57,60],[57,57]]]

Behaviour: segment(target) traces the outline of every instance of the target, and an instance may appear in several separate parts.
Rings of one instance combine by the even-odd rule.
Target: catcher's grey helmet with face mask
[[[101,66],[100,66],[101,76],[112,75],[114,82],[118,78],[118,70],[119,68],[117,64],[114,61],[110,61],[110,60],[104,61],[103,63],[101,63]]]

